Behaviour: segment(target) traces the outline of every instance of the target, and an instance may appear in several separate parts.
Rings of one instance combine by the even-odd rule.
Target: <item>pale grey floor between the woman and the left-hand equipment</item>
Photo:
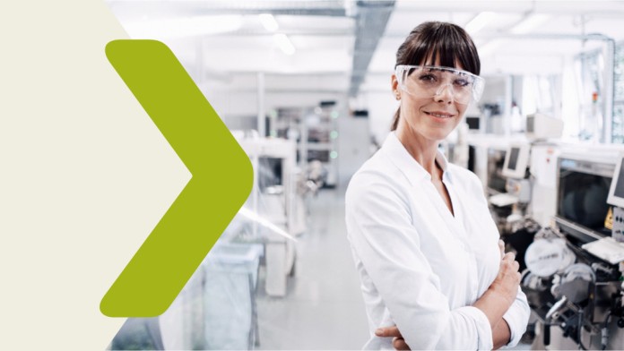
[[[260,349],[361,349],[368,322],[351,259],[340,190],[309,199],[308,230],[298,237],[296,275],[283,298],[258,289]],[[262,270],[261,270],[262,274]]]

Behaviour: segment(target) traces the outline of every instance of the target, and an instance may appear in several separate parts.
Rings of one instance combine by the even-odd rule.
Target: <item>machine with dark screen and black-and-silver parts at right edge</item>
[[[561,153],[554,226],[535,225],[531,244],[516,247],[533,349],[624,348],[624,169],[617,155]],[[517,233],[507,243],[517,246]]]

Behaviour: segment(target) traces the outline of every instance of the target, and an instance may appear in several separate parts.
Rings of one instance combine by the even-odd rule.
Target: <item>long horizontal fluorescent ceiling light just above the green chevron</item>
[[[241,15],[178,17],[127,23],[130,38],[182,38],[238,30]]]

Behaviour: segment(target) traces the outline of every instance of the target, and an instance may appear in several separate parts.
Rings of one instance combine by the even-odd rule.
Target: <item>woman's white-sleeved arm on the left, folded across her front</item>
[[[511,301],[495,309],[494,317],[487,314],[488,306],[488,311],[476,306],[451,310],[421,252],[404,195],[383,183],[366,189],[347,193],[349,239],[407,344],[418,349],[492,348],[490,323],[503,316]],[[491,296],[498,298],[498,291]]]

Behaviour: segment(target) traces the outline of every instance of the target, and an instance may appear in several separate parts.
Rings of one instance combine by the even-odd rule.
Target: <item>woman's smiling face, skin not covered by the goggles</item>
[[[459,64],[455,68],[463,69]],[[444,140],[460,123],[468,107],[468,104],[455,101],[450,85],[443,87],[436,95],[429,94],[429,97],[425,97],[428,95],[426,93],[419,95],[403,91],[394,75],[392,86],[397,98],[401,100],[398,129],[428,141]]]

